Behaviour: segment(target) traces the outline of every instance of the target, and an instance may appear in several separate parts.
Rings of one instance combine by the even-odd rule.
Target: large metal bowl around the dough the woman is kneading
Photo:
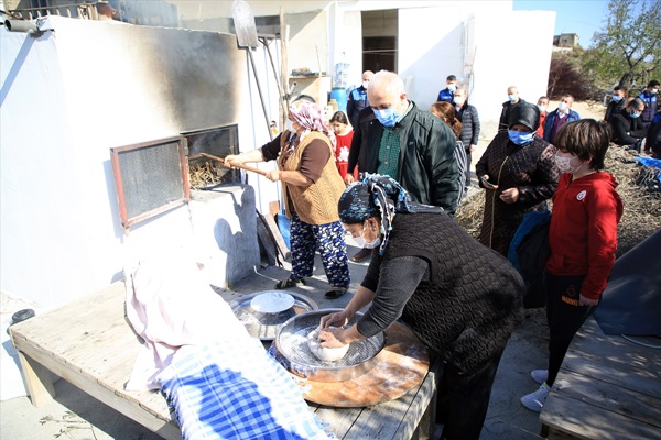
[[[351,342],[349,351],[339,361],[321,361],[310,351],[307,334],[319,326],[323,316],[342,310],[312,310],[297,315],[282,324],[275,337],[275,346],[288,360],[292,373],[310,381],[344,382],[359,377],[377,365],[378,354],[386,346],[384,332]],[[361,316],[360,312],[356,314],[348,326],[356,323]]]

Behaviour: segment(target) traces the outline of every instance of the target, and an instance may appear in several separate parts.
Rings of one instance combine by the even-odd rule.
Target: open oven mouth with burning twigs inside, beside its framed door
[[[188,143],[191,189],[212,189],[241,183],[239,169],[226,168],[219,162],[230,154],[239,154],[238,125],[204,129],[183,135]]]

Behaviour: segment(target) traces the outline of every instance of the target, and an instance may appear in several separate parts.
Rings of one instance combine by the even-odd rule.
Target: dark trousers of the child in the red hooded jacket
[[[546,321],[549,322],[549,378],[551,386],[557,377],[562,361],[593,306],[579,306],[578,294],[585,276],[544,274],[546,284]]]

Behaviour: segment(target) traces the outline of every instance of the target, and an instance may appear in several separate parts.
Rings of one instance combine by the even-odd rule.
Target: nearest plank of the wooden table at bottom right
[[[631,440],[661,439],[661,429],[561,393],[551,392],[540,415],[542,424],[577,439]],[[551,430],[550,430],[551,431]]]

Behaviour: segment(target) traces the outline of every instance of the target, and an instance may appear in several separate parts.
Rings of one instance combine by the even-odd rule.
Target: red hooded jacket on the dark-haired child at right
[[[572,178],[572,174],[564,173],[553,195],[546,271],[553,275],[585,275],[581,295],[598,299],[615,263],[622,201],[615,190],[617,182],[608,173]]]

